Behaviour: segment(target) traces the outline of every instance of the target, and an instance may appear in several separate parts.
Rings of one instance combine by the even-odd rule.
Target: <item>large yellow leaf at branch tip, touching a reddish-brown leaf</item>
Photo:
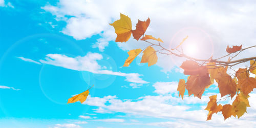
[[[132,34],[132,21],[131,18],[120,13],[120,19],[110,24],[115,28],[117,34],[116,42],[126,42]]]

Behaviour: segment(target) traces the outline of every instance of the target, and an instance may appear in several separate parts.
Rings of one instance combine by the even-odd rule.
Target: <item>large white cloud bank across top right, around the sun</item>
[[[129,6],[127,6],[129,5]],[[141,8],[143,5],[144,8]],[[224,6],[225,5],[225,6]],[[145,20],[151,18],[151,25],[146,34],[160,37],[165,41],[163,46],[174,48],[188,35],[184,46],[196,45],[195,55],[199,58],[214,58],[225,55],[227,45],[240,45],[243,48],[252,46],[256,39],[256,10],[254,1],[82,1],[61,0],[56,6],[42,7],[56,16],[57,20],[64,20],[67,26],[62,32],[75,39],[84,39],[100,34],[103,41],[96,42],[94,47],[101,47],[102,42],[114,40],[116,35],[108,23],[119,19],[119,12],[129,15],[135,27],[137,18]],[[129,8],[132,7],[132,8]],[[193,11],[191,11],[193,10]],[[168,12],[168,13],[166,13]],[[69,17],[68,17],[69,16]],[[243,23],[243,24],[241,24]],[[239,31],[238,31],[239,30]],[[101,34],[108,31],[109,35]],[[105,43],[106,44],[106,43]],[[122,50],[144,48],[144,42],[134,39],[126,43],[118,43]],[[211,47],[209,47],[211,46]],[[101,48],[100,48],[101,47]],[[184,49],[186,49],[184,47]],[[188,49],[189,50],[189,49]],[[255,54],[255,50],[244,51],[241,57]],[[186,51],[184,51],[186,52]],[[160,55],[157,65],[164,72],[170,71],[174,66],[180,66],[179,58]]]

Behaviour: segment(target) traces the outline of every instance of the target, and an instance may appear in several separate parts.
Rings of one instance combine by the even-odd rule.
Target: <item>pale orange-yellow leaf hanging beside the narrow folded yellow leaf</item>
[[[157,53],[154,48],[148,46],[144,51],[140,63],[147,62],[148,67],[155,65],[157,62]]]

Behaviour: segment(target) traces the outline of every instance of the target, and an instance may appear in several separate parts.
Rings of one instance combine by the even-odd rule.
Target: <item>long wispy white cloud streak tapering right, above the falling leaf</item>
[[[110,70],[102,70],[97,60],[101,60],[103,57],[98,53],[88,53],[86,56],[68,57],[62,54],[47,54],[46,60],[40,59],[41,63],[46,63],[48,65],[54,65],[58,67],[63,67],[71,70],[77,71],[88,71],[94,74],[106,74],[106,75],[116,75],[125,77],[126,81],[134,83],[148,83],[140,78],[138,73],[122,73],[113,72]]]

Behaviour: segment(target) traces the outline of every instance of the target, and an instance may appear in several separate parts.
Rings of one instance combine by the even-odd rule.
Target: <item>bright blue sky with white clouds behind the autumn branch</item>
[[[218,113],[206,121],[208,96],[221,98],[216,84],[201,99],[186,91],[182,100],[177,87],[179,79],[187,79],[179,68],[184,58],[157,54],[156,65],[148,67],[139,55],[122,67],[128,51],[148,44],[133,38],[115,42],[109,24],[122,13],[135,29],[138,19],[150,17],[146,34],[160,37],[165,48],[188,36],[186,54],[218,58],[227,45],[255,44],[255,6],[254,1],[0,0],[0,126],[253,127],[255,90],[248,114],[224,121]],[[237,59],[255,53],[248,49]],[[85,102],[67,104],[93,85]]]

